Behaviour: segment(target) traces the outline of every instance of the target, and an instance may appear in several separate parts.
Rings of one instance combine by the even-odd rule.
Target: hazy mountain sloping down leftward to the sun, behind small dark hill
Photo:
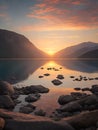
[[[98,43],[83,42],[78,45],[67,47],[57,52],[54,57],[56,58],[77,58],[90,51],[98,49]]]

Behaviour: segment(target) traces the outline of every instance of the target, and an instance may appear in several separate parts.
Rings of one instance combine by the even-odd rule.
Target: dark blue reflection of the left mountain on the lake
[[[17,83],[27,79],[46,61],[41,60],[1,60],[0,80]]]

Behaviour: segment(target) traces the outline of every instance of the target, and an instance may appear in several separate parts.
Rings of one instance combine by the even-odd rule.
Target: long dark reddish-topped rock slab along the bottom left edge
[[[46,117],[27,115],[0,109],[0,116],[5,119],[4,130],[74,130],[66,121],[55,122]]]

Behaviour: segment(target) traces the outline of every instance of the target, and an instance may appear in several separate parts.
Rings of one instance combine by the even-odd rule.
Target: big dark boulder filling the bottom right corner
[[[83,112],[79,115],[67,119],[67,122],[77,130],[79,130],[80,128],[89,128],[92,126],[96,126],[97,121],[98,121],[98,110]]]

